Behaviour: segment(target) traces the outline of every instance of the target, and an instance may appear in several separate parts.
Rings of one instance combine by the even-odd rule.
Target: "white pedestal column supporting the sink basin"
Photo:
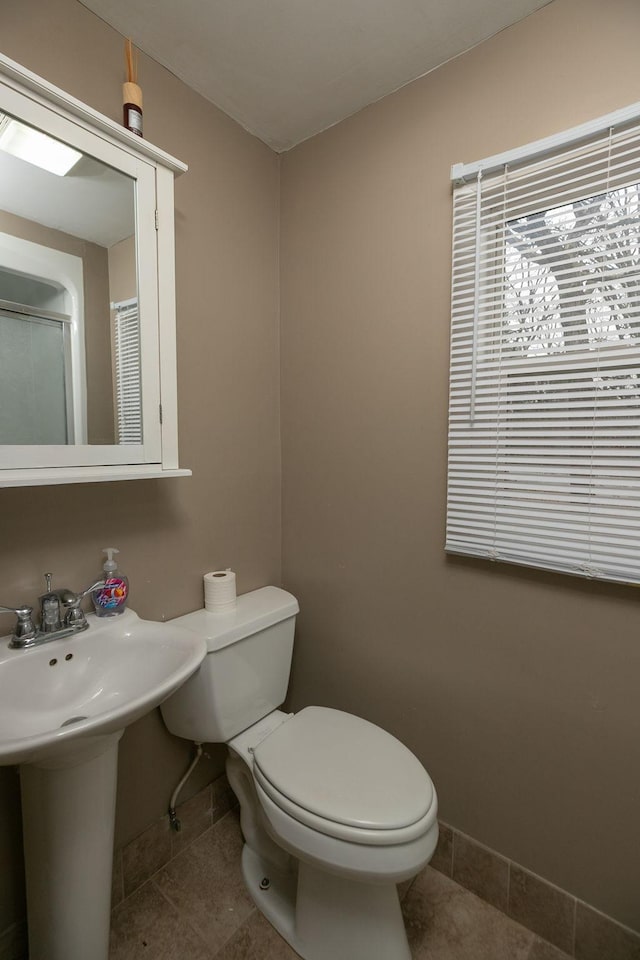
[[[29,960],[108,960],[123,732],[20,767]]]

